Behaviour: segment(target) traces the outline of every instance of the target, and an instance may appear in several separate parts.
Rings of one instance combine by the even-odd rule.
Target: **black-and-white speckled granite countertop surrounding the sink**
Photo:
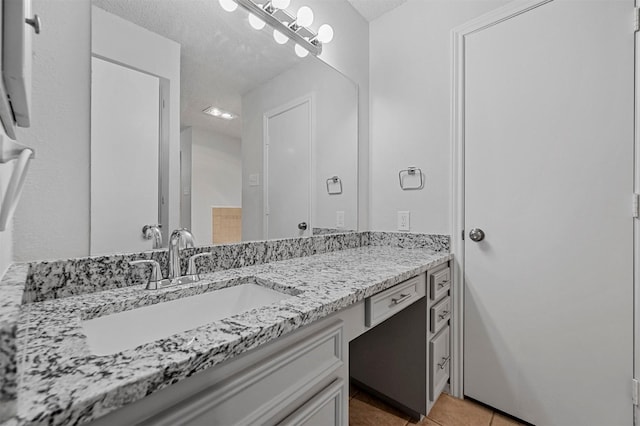
[[[365,246],[219,271],[162,290],[136,285],[23,305],[17,415],[4,425],[95,419],[450,258],[428,249]],[[83,319],[236,285],[245,277],[295,296],[114,355],[89,351]]]

